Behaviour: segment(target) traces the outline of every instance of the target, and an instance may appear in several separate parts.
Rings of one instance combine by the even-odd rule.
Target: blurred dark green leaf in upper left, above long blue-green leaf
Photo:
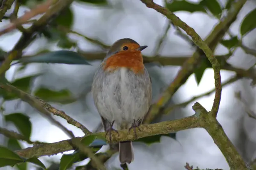
[[[73,25],[73,12],[71,11],[70,7],[61,11],[61,14],[58,15],[56,18],[56,23],[61,26],[65,26],[70,28]]]

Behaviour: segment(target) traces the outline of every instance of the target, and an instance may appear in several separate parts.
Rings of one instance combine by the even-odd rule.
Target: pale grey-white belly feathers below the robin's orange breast
[[[135,74],[129,68],[119,68],[103,71],[103,74],[93,83],[93,97],[99,113],[116,123],[142,118],[151,102],[151,82],[146,70],[143,74]]]

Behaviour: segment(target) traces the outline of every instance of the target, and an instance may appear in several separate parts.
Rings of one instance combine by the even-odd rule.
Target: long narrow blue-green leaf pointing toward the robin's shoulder
[[[90,65],[81,55],[73,51],[52,51],[49,53],[39,54],[33,57],[22,57],[19,62],[31,63],[60,63],[60,64],[83,64]],[[17,63],[19,63],[17,62]]]

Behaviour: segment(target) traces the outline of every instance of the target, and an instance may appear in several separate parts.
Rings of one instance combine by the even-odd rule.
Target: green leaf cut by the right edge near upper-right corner
[[[249,14],[247,14],[244,17],[244,20],[242,21],[241,26],[240,26],[240,33],[242,36],[249,33],[254,28],[256,28],[255,16],[256,16],[256,8],[254,10],[250,11]]]

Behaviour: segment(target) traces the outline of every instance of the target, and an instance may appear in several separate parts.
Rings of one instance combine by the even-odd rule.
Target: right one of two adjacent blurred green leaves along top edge
[[[202,0],[200,5],[207,8],[215,17],[221,17],[222,10],[218,0]]]

